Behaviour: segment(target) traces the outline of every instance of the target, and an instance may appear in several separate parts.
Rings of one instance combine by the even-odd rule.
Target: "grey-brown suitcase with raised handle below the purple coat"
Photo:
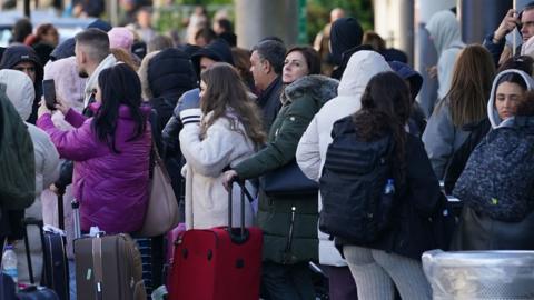
[[[80,236],[79,203],[72,201],[75,236]],[[146,300],[141,256],[128,234],[75,240],[77,299]]]

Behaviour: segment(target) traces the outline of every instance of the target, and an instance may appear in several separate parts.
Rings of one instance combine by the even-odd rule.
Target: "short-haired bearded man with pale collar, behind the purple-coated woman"
[[[76,34],[76,63],[81,78],[89,78],[86,83],[83,107],[95,101],[98,76],[103,69],[117,63],[109,50],[108,34],[96,28],[90,28]]]

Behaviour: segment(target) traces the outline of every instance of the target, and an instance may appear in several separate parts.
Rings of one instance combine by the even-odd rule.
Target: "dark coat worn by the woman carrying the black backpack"
[[[333,137],[346,131],[347,126],[354,128],[353,117],[346,117],[336,122]],[[379,140],[363,143],[360,147],[376,148]],[[421,140],[406,133],[406,181],[404,184],[396,181],[395,202],[390,216],[390,229],[383,232],[378,240],[368,244],[338,239],[336,246],[356,244],[386,252],[394,252],[415,260],[421,254],[436,248],[433,226],[429,218],[438,209],[441,190],[439,183],[432,171],[428,157]],[[362,149],[362,152],[366,151]],[[368,151],[368,150],[367,150]],[[357,151],[359,152],[359,151]]]

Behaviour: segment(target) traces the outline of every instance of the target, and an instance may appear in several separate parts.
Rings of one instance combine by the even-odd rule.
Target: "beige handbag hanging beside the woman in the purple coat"
[[[154,142],[152,142],[154,143]],[[170,183],[170,177],[165,168],[154,143],[154,171],[150,182],[150,198],[141,229],[136,237],[157,237],[178,226],[178,201]]]

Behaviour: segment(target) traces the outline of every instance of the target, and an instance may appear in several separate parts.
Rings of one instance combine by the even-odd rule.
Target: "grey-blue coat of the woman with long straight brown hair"
[[[451,117],[448,98],[442,100],[432,113],[423,132],[423,142],[431,159],[432,169],[442,180],[453,154],[465,142],[469,132],[456,128]]]

